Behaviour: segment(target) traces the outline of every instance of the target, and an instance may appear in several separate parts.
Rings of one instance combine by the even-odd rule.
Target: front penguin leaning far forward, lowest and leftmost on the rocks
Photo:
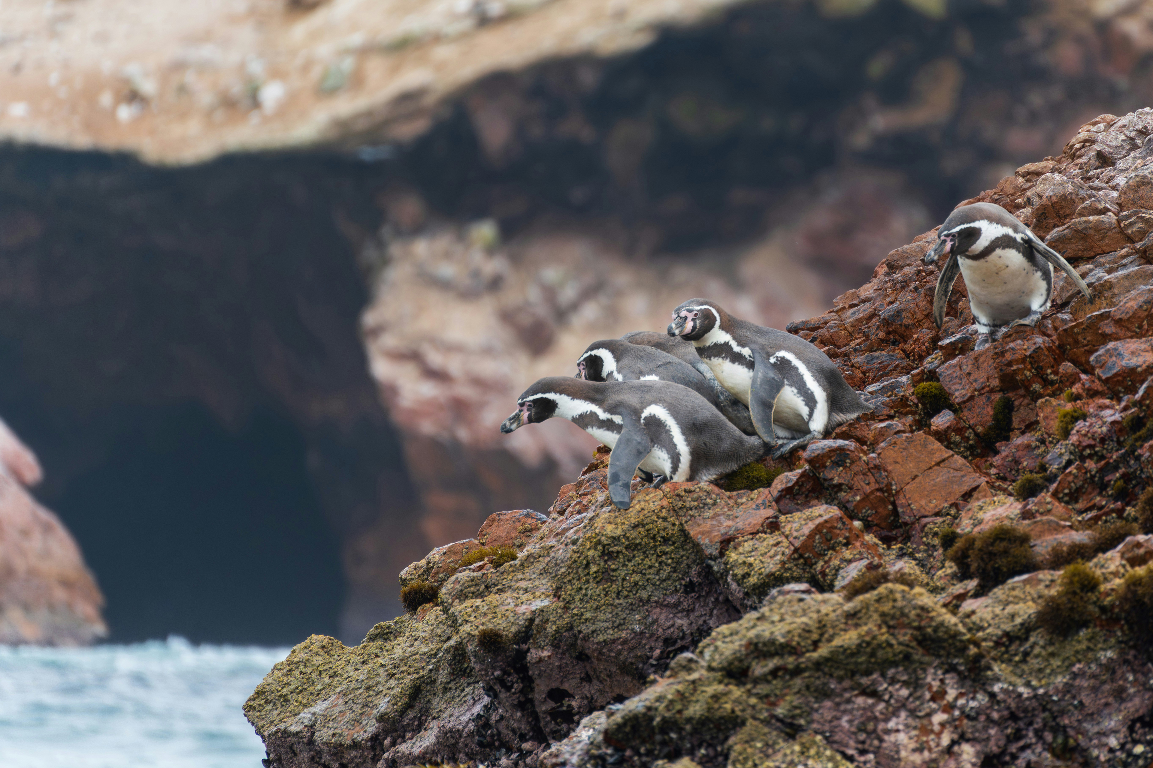
[[[746,435],[688,387],[670,381],[541,379],[517,398],[500,425],[508,434],[558,417],[568,419],[612,449],[609,497],[632,503],[638,470],[665,479],[714,480],[764,456],[766,444]],[[660,485],[660,484],[658,484]]]

